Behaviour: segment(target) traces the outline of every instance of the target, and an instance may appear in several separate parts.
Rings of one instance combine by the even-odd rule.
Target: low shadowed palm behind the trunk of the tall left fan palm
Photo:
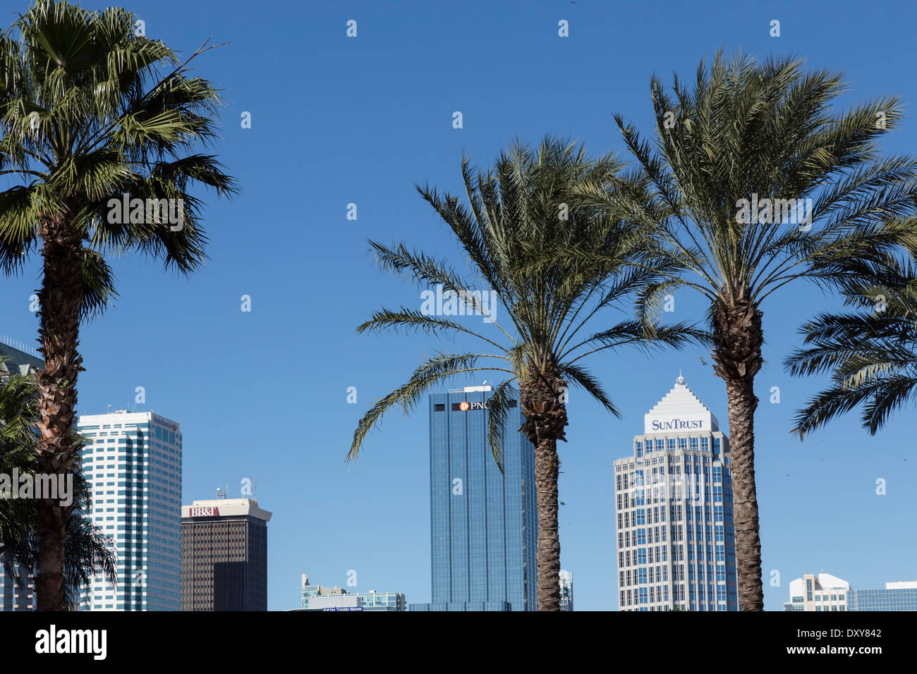
[[[38,435],[38,384],[33,375],[0,375],[0,473],[35,473]],[[74,437],[75,443],[83,438]],[[94,573],[116,580],[116,555],[109,536],[83,513],[92,509],[92,491],[83,473],[73,472],[74,514],[67,522],[61,606],[75,611],[80,591]],[[38,562],[38,503],[34,499],[0,500],[0,561],[8,578],[24,587]]]

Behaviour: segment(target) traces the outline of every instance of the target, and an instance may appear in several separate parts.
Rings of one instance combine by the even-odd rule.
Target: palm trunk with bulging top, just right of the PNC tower
[[[560,538],[558,536],[558,440],[567,441],[567,406],[561,396],[567,382],[553,361],[544,368],[530,361],[520,392],[525,423],[519,429],[535,445],[535,489],[538,507],[538,611],[560,610]]]

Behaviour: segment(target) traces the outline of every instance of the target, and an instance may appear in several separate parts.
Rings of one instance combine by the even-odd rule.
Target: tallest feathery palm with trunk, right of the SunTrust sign
[[[647,287],[647,312],[679,286],[710,303],[713,370],[729,405],[739,602],[761,611],[754,435],[761,307],[788,283],[843,281],[845,261],[913,238],[913,220],[902,218],[913,212],[917,161],[878,150],[878,138],[900,120],[898,98],[835,111],[843,78],[805,72],[791,58],[758,63],[740,53],[727,61],[721,50],[709,67],[701,62],[691,86],[676,75],[669,95],[654,76],[650,90],[655,143],[616,116],[642,169],[640,189],[631,204],[609,206],[655,223],[648,255],[681,270]],[[592,196],[607,203],[605,194]]]

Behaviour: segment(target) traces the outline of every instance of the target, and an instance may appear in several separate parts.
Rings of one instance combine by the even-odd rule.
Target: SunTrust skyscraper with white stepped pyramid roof
[[[679,375],[614,461],[621,611],[737,611],[729,438]]]

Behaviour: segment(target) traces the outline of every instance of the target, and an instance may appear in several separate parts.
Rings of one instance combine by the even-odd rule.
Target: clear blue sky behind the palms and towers
[[[900,94],[908,116],[886,147],[917,152],[917,6],[907,2],[127,7],[149,37],[184,53],[211,36],[229,42],[196,66],[224,89],[217,151],[242,192],[232,202],[207,197],[210,260],[193,277],[133,255],[113,262],[121,299],[83,328],[79,409],[132,408],[135,389],[145,387],[147,404],[137,409],[182,425],[183,503],[212,498],[226,484],[239,496],[240,481],[257,478],[259,503],[274,513],[271,610],[299,606],[304,571],[344,586],[353,569],[358,591],[430,599],[425,408],[409,418],[392,414],[359,462],[344,462],[367,405],[403,383],[425,354],[451,346],[354,331],[381,305],[420,305],[414,288],[373,266],[367,238],[403,239],[464,263],[415,182],[457,192],[463,150],[486,164],[514,136],[537,141],[554,132],[580,138],[593,154],[621,152],[613,114],[648,133],[651,75],[690,79],[720,45],[759,57],[797,53],[812,68],[844,71],[851,89],[843,105]],[[348,19],[358,22],[356,39],[345,35]],[[569,38],[558,37],[561,19]],[[779,38],[769,37],[772,19]],[[461,129],[452,127],[457,110]],[[251,128],[240,127],[246,111]],[[349,203],[357,204],[355,221],[346,218]],[[28,296],[39,269],[36,258],[5,281],[0,333],[34,343]],[[240,310],[244,294],[250,313]],[[834,304],[796,284],[764,307],[767,365],[757,378],[756,424],[768,610],[779,610],[789,581],[807,571],[824,569],[855,588],[917,579],[912,413],[896,415],[876,437],[856,415],[804,443],[788,433],[794,410],[822,382],[790,379],[782,359],[800,342],[797,326]],[[677,293],[676,309],[667,316],[702,319],[689,291]],[[630,453],[643,414],[679,369],[725,425],[724,385],[709,362],[703,349],[592,359],[620,420],[571,392],[569,443],[560,447],[561,563],[573,572],[579,610],[616,608],[612,461]],[[347,403],[349,386],[357,404]],[[772,386],[779,404],[768,402]],[[770,584],[772,569],[779,586]]]

